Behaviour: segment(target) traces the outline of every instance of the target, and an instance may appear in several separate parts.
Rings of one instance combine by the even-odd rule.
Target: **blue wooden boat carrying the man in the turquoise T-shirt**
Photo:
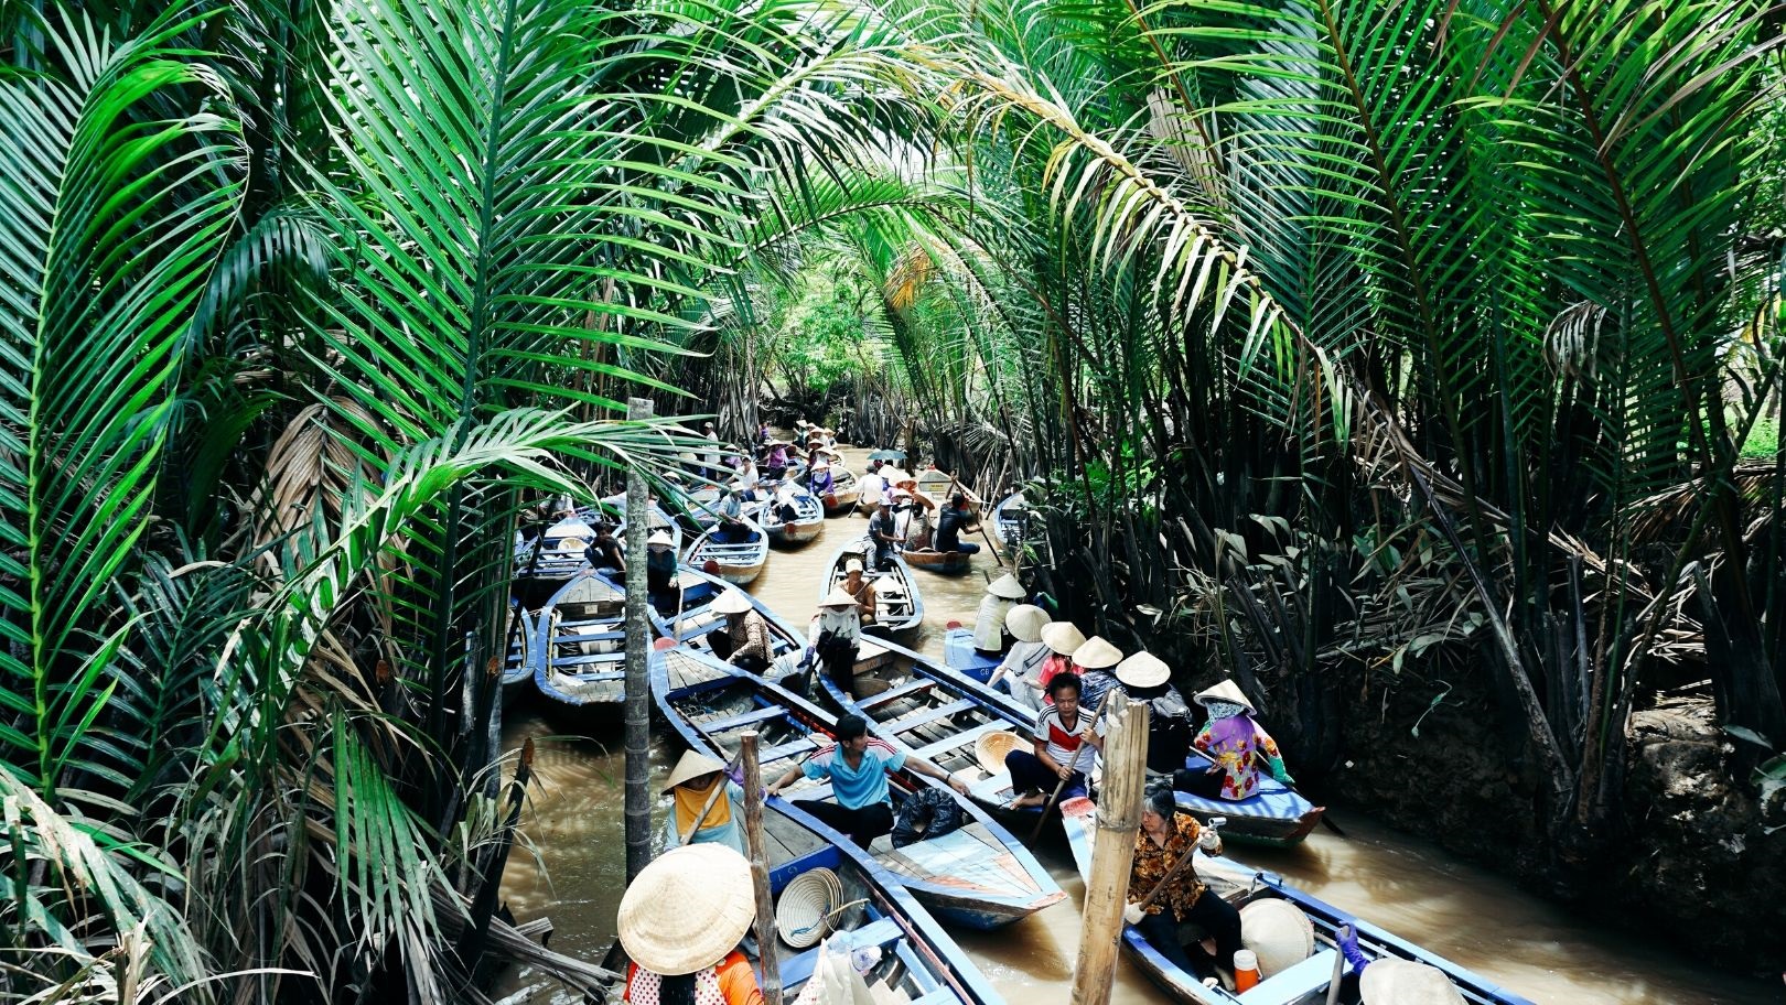
[[[679,646],[654,652],[652,694],[664,719],[689,746],[707,750],[720,760],[732,759],[739,734],[755,730],[766,780],[780,777],[795,759],[832,743],[834,719],[827,712],[700,650]],[[900,798],[918,785],[941,782],[909,769],[893,778]],[[832,800],[830,785],[807,778],[789,791],[802,800]],[[966,814],[961,828],[904,848],[893,848],[880,837],[870,848],[875,862],[895,873],[943,921],[968,928],[1009,925],[1066,898],[1009,832],[970,800],[959,803]]]

